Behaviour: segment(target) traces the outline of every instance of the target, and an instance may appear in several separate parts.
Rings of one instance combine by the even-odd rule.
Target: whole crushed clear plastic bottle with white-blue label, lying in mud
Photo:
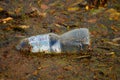
[[[68,31],[60,36],[48,33],[25,38],[16,48],[33,53],[75,53],[84,50],[84,46],[89,44],[89,30],[80,28]]]

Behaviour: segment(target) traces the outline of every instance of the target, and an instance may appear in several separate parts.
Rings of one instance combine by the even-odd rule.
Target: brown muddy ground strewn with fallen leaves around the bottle
[[[119,0],[89,9],[83,0],[0,1],[0,80],[119,80]],[[20,40],[44,33],[90,30],[91,48],[80,53],[33,54]]]

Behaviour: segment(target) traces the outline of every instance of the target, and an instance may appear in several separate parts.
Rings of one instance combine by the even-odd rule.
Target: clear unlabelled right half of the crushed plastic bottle
[[[74,29],[61,35],[62,52],[76,53],[90,45],[89,30],[87,28]]]

